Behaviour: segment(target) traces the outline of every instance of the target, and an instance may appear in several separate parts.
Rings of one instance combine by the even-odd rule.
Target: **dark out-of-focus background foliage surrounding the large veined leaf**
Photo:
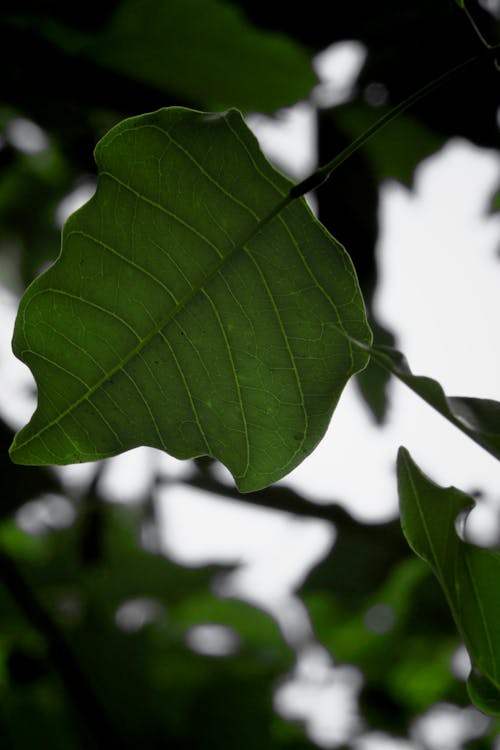
[[[88,3],[78,17],[67,3],[4,3],[2,281],[19,292],[57,255],[55,208],[94,173],[96,141],[124,117],[171,104],[272,113],[308,96],[316,52],[358,39],[368,57],[351,100],[318,112],[325,162],[380,114],[366,104],[370,84],[385,85],[389,106],[479,51],[451,0],[381,0],[376,13],[367,0],[338,5],[332,24],[320,2],[308,3],[307,14],[296,5],[283,15],[259,1],[117,0]],[[493,16],[476,10],[485,35],[497,41]],[[499,105],[493,66],[471,70],[398,119],[318,192],[320,218],[348,247],[369,307],[381,181],[411,185],[420,160],[455,135],[498,149]],[[9,140],[19,116],[48,134],[41,153],[24,153]],[[390,343],[391,332],[371,317],[376,338]],[[382,422],[386,377],[373,364],[358,383]],[[140,509],[118,511],[97,483],[68,495],[54,472],[9,462],[12,431],[4,422],[0,439],[3,747],[311,747],[303,728],[272,706],[273,688],[296,654],[266,615],[210,593],[217,571],[182,569],[141,546],[141,529],[156,522],[152,496]],[[408,737],[415,718],[436,701],[468,705],[465,685],[449,667],[459,645],[455,626],[399,523],[365,526],[336,505],[315,508],[283,488],[243,500],[203,462],[193,462],[186,483],[334,525],[335,545],[300,595],[319,641],[337,661],[361,669],[366,727]],[[27,535],[13,514],[47,492],[64,496],[75,520],[66,530],[49,523],[42,536]],[[138,599],[154,602],[150,621],[133,632],[118,627],[117,608]],[[396,624],[374,633],[365,615],[380,604],[391,607]],[[188,628],[207,621],[238,632],[234,655],[214,659],[188,647]],[[490,748],[495,734],[492,723],[469,746]]]

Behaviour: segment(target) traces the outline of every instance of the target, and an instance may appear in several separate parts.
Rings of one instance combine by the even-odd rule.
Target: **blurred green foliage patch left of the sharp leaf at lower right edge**
[[[332,551],[301,596],[333,658],[362,671],[369,725],[408,733],[436,701],[467,704],[450,669],[459,645],[453,620],[429,569],[405,551],[399,522],[339,519],[335,527]]]

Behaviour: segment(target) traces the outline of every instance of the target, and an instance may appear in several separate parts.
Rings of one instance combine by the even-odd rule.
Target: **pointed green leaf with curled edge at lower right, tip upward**
[[[474,500],[432,482],[404,448],[398,482],[403,532],[436,574],[469,651],[471,699],[482,711],[500,715],[500,553],[459,538],[457,517],[469,512]]]

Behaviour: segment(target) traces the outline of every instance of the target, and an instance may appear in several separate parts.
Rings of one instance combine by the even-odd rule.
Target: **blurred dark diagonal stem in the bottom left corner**
[[[103,750],[126,748],[127,745],[111,724],[62,633],[36,599],[15,561],[3,550],[0,550],[0,578],[19,609],[44,636],[53,665],[68,695],[73,700],[83,724],[95,735],[95,747]]]

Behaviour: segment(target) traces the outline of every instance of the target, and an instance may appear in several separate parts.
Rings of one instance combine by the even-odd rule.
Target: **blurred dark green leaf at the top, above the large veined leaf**
[[[272,112],[316,82],[297,42],[255,28],[223,0],[124,0],[100,32],[51,25],[47,33],[103,67],[216,111]]]

